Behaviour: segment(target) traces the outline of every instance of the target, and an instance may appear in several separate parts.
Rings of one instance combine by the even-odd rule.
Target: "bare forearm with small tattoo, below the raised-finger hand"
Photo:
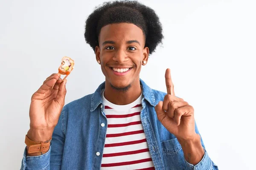
[[[200,136],[195,134],[195,137],[189,140],[179,140],[182,147],[184,157],[190,164],[198,164],[204,156],[204,148],[202,147]]]

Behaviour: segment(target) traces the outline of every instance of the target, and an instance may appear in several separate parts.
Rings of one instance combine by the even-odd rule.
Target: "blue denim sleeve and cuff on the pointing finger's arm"
[[[196,123],[195,123],[195,132],[200,135]],[[204,148],[204,156],[203,156],[202,160],[200,162],[198,162],[198,164],[196,164],[196,165],[190,164],[188,161],[186,161],[186,159],[184,157],[184,160],[185,160],[185,163],[186,163],[186,168],[188,170],[218,170],[217,165],[214,164],[214,162],[208,156],[207,151],[205,150],[204,142],[202,140],[201,135],[200,135],[200,137],[201,137],[201,144]]]

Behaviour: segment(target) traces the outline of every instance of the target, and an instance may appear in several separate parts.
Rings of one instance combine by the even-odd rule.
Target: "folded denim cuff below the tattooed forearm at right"
[[[204,156],[198,164],[193,165],[193,164],[190,164],[188,161],[186,161],[185,158],[184,158],[184,160],[186,162],[186,167],[189,170],[212,170],[212,166],[213,166],[212,160],[209,158],[205,149],[204,149]]]

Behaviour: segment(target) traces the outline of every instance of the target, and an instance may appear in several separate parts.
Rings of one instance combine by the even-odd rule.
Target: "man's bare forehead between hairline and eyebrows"
[[[137,40],[141,42],[144,41],[144,35],[141,28],[131,23],[113,23],[108,24],[101,28],[99,34],[99,43],[107,40],[112,40],[115,42]]]

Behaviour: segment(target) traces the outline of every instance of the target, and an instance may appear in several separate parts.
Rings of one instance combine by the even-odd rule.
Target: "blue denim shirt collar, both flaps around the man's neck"
[[[146,99],[152,106],[156,106],[155,98],[152,89],[146,85],[146,83],[140,79],[140,85],[142,86],[143,99]],[[97,90],[94,92],[91,98],[91,112],[94,111],[100,104],[102,104],[101,91],[105,88],[105,82],[103,82]]]

